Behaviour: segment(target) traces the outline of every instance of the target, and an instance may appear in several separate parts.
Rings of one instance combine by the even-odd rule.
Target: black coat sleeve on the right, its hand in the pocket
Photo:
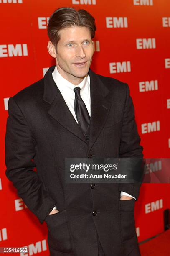
[[[124,115],[122,123],[122,133],[119,148],[120,158],[143,158],[143,147],[140,146],[140,136],[137,132],[137,125],[134,119],[134,105],[129,95],[129,86],[127,87],[127,96],[124,106]],[[119,184],[119,191],[127,192],[133,197],[138,198],[141,183],[122,183]]]

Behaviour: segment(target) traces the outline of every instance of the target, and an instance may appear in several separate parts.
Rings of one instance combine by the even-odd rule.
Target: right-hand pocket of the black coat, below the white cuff
[[[130,200],[119,200],[122,241],[132,238],[136,232],[134,222],[134,202],[134,198]]]

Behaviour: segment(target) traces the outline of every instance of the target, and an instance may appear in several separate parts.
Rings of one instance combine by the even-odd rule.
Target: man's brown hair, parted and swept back
[[[50,16],[48,21],[48,37],[50,41],[57,47],[60,40],[59,31],[72,26],[89,28],[91,38],[94,38],[96,25],[94,17],[86,10],[75,10],[74,8],[62,7]]]

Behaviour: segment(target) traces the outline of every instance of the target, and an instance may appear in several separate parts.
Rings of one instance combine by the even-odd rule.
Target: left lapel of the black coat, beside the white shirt
[[[76,120],[71,114],[65,100],[63,99],[63,96],[61,95],[61,92],[53,80],[52,72],[54,68],[55,66],[50,67],[44,77],[43,100],[51,105],[48,113],[64,128],[87,143],[79,125],[76,123]]]

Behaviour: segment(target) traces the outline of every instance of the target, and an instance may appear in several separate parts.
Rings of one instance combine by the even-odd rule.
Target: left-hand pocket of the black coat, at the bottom
[[[66,210],[48,215],[45,221],[48,226],[48,245],[56,251],[73,253]]]

